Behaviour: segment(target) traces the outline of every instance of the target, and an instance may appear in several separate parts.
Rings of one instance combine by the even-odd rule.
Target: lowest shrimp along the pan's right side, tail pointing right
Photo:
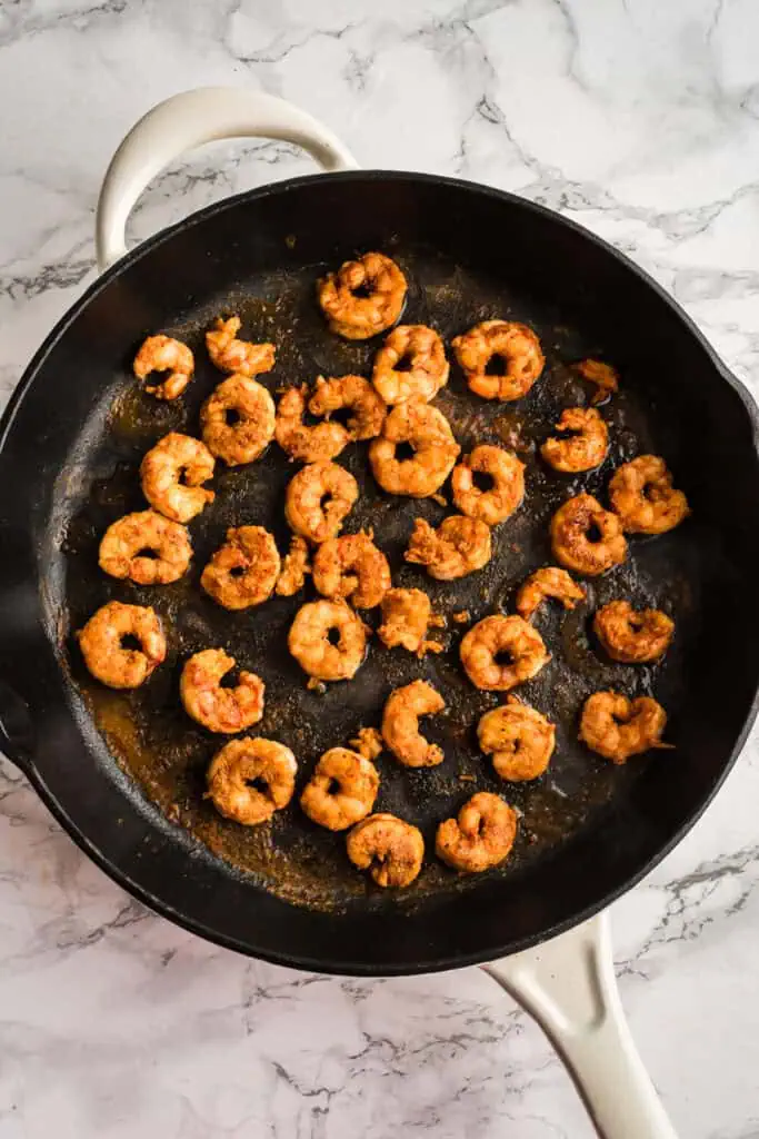
[[[650,696],[593,693],[583,706],[579,738],[605,760],[625,763],[651,747],[671,747],[661,743],[666,726],[667,713]]]

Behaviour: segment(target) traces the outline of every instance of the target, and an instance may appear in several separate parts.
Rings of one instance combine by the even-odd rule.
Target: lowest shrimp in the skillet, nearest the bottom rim
[[[378,886],[410,886],[422,868],[424,839],[395,814],[370,814],[349,831],[348,858],[369,870]]]

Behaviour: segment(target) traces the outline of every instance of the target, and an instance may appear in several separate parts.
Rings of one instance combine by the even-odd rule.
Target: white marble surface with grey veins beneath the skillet
[[[98,182],[156,100],[263,87],[365,165],[547,203],[645,265],[759,388],[754,0],[1,0],[0,392],[92,278]],[[308,163],[178,162],[135,236]],[[718,714],[718,710],[716,710]],[[613,912],[685,1139],[759,1137],[759,752]],[[581,1139],[538,1030],[478,970],[356,982],[214,949],[96,870],[6,764],[0,1139]]]

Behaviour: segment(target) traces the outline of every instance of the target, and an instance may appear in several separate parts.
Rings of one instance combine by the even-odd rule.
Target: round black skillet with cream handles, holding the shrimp
[[[240,134],[287,138],[343,172],[226,199],[119,259],[126,215],[147,181],[189,146]],[[0,428],[0,727],[3,749],[73,838],[171,920],[299,968],[403,974],[492,961],[585,921],[671,850],[721,784],[757,711],[757,410],[674,302],[578,226],[481,186],[346,170],[350,165],[337,140],[303,113],[221,89],[170,100],[123,144],[98,221],[101,265],[117,263],[50,334]],[[347,866],[340,842],[307,826],[295,804],[278,818],[271,841],[270,831],[240,835],[216,818],[201,790],[217,741],[178,710],[176,670],[189,653],[223,644],[240,664],[261,671],[269,697],[261,732],[294,747],[303,778],[327,746],[377,722],[390,688],[428,675],[449,702],[449,714],[430,730],[439,734],[446,763],[410,776],[382,760],[379,808],[413,817],[429,837],[475,781],[503,793],[471,734],[496,700],[462,679],[459,628],[451,624],[439,657],[419,664],[373,650],[355,683],[320,696],[306,691],[283,648],[302,599],[278,599],[242,618],[206,601],[197,574],[226,525],[261,522],[284,541],[281,495],[291,469],[274,449],[261,464],[215,480],[217,500],[191,527],[196,568],[187,583],[139,591],[97,570],[105,526],[139,507],[140,456],[166,431],[197,432],[199,403],[218,382],[203,359],[203,330],[218,312],[239,311],[247,335],[277,342],[272,385],[319,371],[366,374],[376,345],[338,343],[313,287],[325,267],[371,248],[390,253],[409,277],[406,321],[434,323],[449,342],[477,320],[505,316],[535,327],[546,351],[544,377],[519,404],[472,398],[455,369],[438,399],[462,446],[505,440],[525,458],[528,482],[526,505],[498,532],[488,570],[430,587],[439,608],[465,609],[472,621],[509,608],[519,581],[550,560],[546,523],[558,503],[580,486],[603,498],[610,470],[635,453],[663,454],[693,508],[671,534],[634,539],[629,562],[591,583],[589,606],[541,617],[553,661],[525,694],[556,719],[560,746],[550,777],[509,789],[523,817],[508,868],[460,882],[430,866],[399,899],[369,888]],[[157,330],[187,339],[198,359],[196,378],[175,404],[157,404],[130,376],[135,347]],[[610,459],[567,481],[541,466],[536,444],[562,407],[587,400],[570,368],[585,355],[613,362],[621,391],[603,409]],[[443,509],[389,502],[368,476],[363,450],[340,461],[362,485],[349,528],[373,525],[396,581],[428,588],[403,567],[403,543],[416,514],[437,522]],[[663,665],[611,666],[593,644],[593,605],[620,593],[675,616],[677,638]],[[112,597],[146,599],[170,630],[168,662],[131,695],[91,682],[73,640]],[[581,700],[612,686],[655,693],[670,713],[674,752],[617,769],[579,746]],[[595,953],[594,927],[581,929],[575,940]],[[512,961],[523,974],[541,959]],[[515,969],[502,962],[493,972],[526,1000]],[[613,1002],[613,993],[608,999]],[[534,995],[527,1002],[541,1014]],[[542,1019],[551,1031],[545,1013]],[[560,1035],[554,1025],[555,1042],[571,1054]],[[608,1040],[596,1049],[610,1051]],[[581,1056],[568,1058],[586,1067]],[[617,1072],[616,1080],[617,1105],[619,1083],[629,1081],[638,1107],[628,1113],[632,1129],[621,1130],[596,1073],[588,1096],[604,1134],[671,1134],[650,1097],[641,1107],[649,1096],[642,1076]]]

